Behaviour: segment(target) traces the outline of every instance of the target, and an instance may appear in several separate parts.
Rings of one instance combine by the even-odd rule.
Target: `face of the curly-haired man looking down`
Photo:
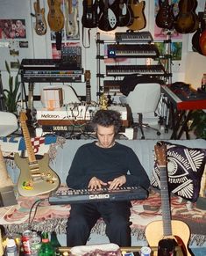
[[[115,128],[113,125],[110,127],[103,127],[101,125],[97,125],[96,135],[100,147],[110,148],[115,140]]]

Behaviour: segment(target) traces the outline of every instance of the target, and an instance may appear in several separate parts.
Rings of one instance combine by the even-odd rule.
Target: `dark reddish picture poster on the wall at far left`
[[[0,19],[0,39],[25,38],[25,19]]]

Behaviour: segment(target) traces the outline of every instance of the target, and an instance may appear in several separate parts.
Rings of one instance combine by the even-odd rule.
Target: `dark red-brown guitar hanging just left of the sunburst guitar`
[[[172,29],[174,27],[174,4],[168,0],[159,0],[160,9],[155,18],[156,25],[160,28]]]

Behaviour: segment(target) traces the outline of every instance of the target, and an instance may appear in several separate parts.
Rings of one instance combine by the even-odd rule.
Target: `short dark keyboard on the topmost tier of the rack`
[[[150,43],[153,41],[153,36],[149,31],[140,32],[117,32],[115,33],[117,42],[133,41],[135,43]]]

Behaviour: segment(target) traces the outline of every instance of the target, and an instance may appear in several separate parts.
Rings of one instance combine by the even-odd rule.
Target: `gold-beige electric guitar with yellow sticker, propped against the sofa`
[[[20,113],[20,123],[25,138],[25,147],[28,157],[19,157],[18,153],[14,155],[14,161],[20,169],[18,177],[18,192],[23,196],[35,196],[46,194],[60,185],[58,175],[49,167],[49,157],[45,154],[40,160],[37,160],[32,149],[31,137],[26,125],[26,114]]]

